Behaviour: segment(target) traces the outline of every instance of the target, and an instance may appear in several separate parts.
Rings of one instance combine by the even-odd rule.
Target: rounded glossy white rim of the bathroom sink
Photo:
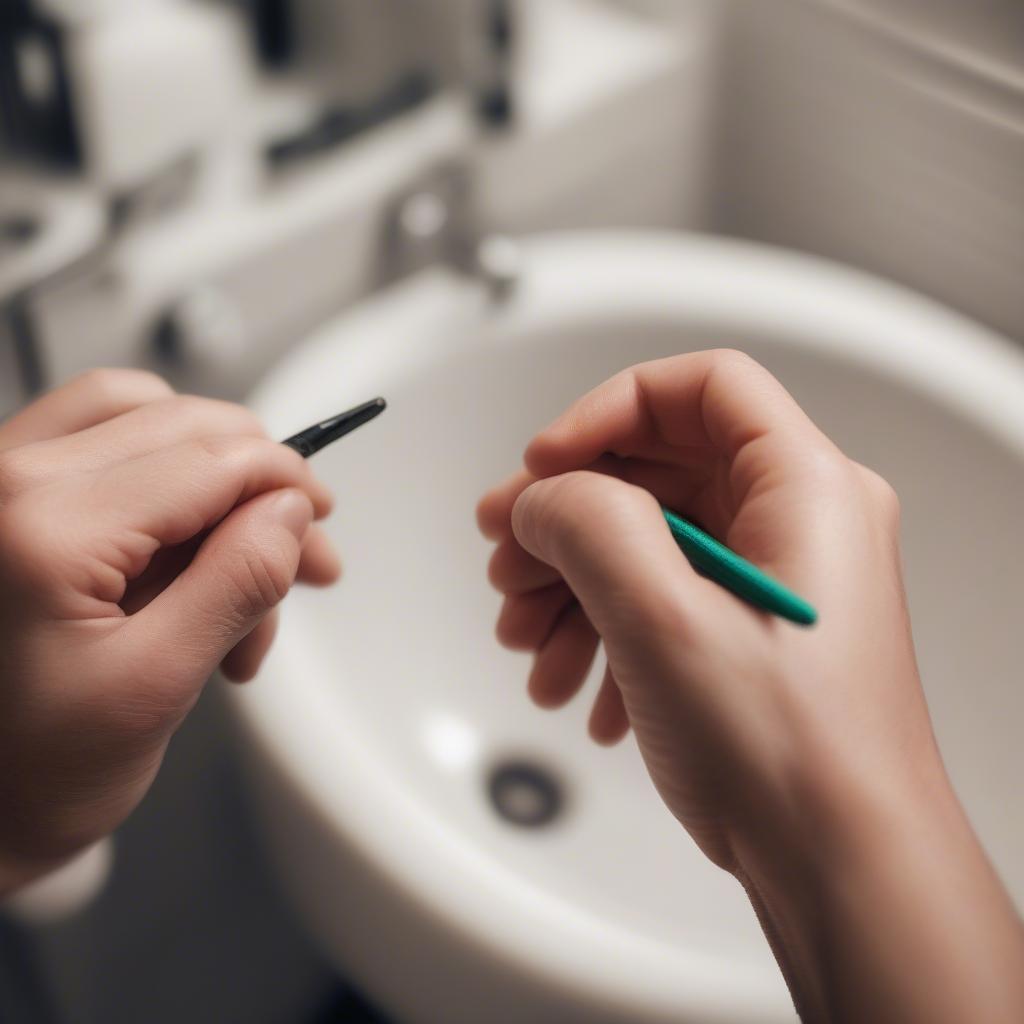
[[[813,257],[699,236],[542,236],[524,243],[524,256],[528,269],[522,296],[503,314],[519,317],[517,333],[550,325],[553,311],[557,319],[565,315],[559,308],[573,303],[582,308],[584,300],[588,316],[640,315],[648,302],[663,313],[678,313],[681,323],[745,324],[762,333],[766,322],[774,323],[796,347],[826,346],[833,354],[928,392],[1015,450],[1024,463],[1024,403],[1014,400],[1015,393],[1024,393],[1024,354],[914,293]],[[595,287],[595,279],[618,290]],[[475,295],[458,279],[449,287],[453,309]],[[740,289],[743,303],[737,309],[729,303]],[[523,306],[518,312],[517,302]],[[322,357],[321,350],[336,347],[332,336],[351,315],[343,314],[289,356],[253,396],[257,412],[278,404],[278,392],[301,380]],[[811,342],[810,328],[822,324],[829,331]],[[806,330],[795,331],[800,325]],[[900,344],[892,343],[894,336]],[[336,837],[356,845],[395,890],[439,924],[559,987],[571,986],[589,997],[597,989],[616,1005],[642,1006],[655,1014],[711,1016],[728,1008],[733,1014],[746,1011],[753,1019],[765,1013],[766,1000],[777,1001],[781,981],[774,973],[768,977],[745,965],[737,972],[717,956],[607,925],[582,907],[559,905],[509,869],[496,871],[492,858],[461,841],[458,829],[434,818],[388,773],[375,771],[373,753],[358,736],[346,737],[339,749],[338,733],[329,725],[336,712],[323,688],[307,688],[299,709],[294,686],[272,685],[272,675],[304,676],[303,652],[288,651],[287,637],[281,639],[285,642],[274,645],[260,679],[232,691],[247,731],[331,822]],[[326,764],[325,752],[330,753]],[[366,784],[337,785],[346,765]],[[411,822],[418,839],[415,858],[404,853]],[[496,921],[500,928],[492,927]],[[593,971],[594,963],[601,964],[600,972]]]

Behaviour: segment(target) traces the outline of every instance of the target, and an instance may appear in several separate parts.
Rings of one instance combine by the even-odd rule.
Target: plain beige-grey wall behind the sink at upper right
[[[717,229],[1024,340],[1024,7],[730,0],[724,61]]]

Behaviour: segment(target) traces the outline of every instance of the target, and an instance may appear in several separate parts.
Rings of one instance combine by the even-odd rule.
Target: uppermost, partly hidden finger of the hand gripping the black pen
[[[142,370],[93,370],[36,399],[0,427],[0,450],[62,437],[173,395]]]

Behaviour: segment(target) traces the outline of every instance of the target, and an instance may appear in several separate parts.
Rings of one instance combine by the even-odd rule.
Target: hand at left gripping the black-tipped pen
[[[115,828],[210,674],[252,677],[331,497],[245,410],[99,371],[0,427],[0,893]]]

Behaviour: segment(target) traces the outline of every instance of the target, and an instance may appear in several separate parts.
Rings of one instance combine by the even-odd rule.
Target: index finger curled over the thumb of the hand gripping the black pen
[[[118,539],[114,567],[134,579],[158,548],[187,541],[234,506],[282,487],[302,489],[316,516],[330,511],[330,493],[291,449],[254,437],[211,437],[102,471],[68,519],[83,535]]]

